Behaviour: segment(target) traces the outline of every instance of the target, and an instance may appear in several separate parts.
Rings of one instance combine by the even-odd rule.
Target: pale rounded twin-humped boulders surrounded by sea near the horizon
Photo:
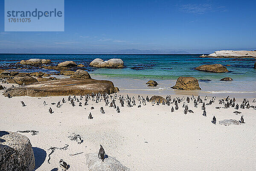
[[[91,61],[90,66],[98,68],[123,68],[124,62],[122,59],[110,59],[108,61],[103,61],[102,59],[96,58]]]

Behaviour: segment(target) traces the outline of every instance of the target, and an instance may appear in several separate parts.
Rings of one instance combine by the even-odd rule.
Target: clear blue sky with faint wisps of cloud
[[[256,49],[255,0],[65,0],[64,32],[4,32],[0,52]]]

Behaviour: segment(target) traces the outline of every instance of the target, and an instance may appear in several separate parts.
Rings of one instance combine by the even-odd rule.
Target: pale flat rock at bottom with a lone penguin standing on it
[[[104,162],[98,158],[98,154],[89,153],[85,154],[85,157],[89,171],[130,171],[114,157],[108,156],[104,159]]]

